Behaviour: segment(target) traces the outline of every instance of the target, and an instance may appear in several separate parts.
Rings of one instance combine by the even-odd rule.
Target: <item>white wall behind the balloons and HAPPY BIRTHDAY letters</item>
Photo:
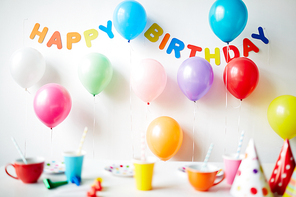
[[[63,150],[77,148],[85,126],[89,128],[84,145],[88,158],[93,158],[94,151],[96,159],[131,159],[133,154],[140,153],[140,132],[154,118],[162,115],[177,120],[184,132],[182,147],[171,160],[191,161],[194,140],[195,161],[204,159],[211,142],[215,146],[209,161],[222,161],[223,153],[236,151],[240,131],[244,129],[243,150],[248,140],[254,138],[260,159],[275,162],[283,140],[269,126],[267,108],[277,96],[296,95],[296,1],[244,1],[249,13],[248,23],[231,44],[239,48],[241,55],[244,38],[249,38],[259,48],[259,53],[251,52],[249,58],[259,67],[260,79],[255,91],[243,100],[241,108],[237,108],[240,102],[229,93],[226,108],[226,92],[222,82],[226,65],[222,47],[225,44],[214,35],[208,23],[208,12],[214,0],[139,0],[148,15],[144,32],[157,23],[164,33],[170,33],[171,38],[178,38],[185,45],[202,47],[203,51],[198,53],[201,57],[204,57],[206,47],[211,52],[215,47],[220,48],[221,65],[217,66],[211,60],[215,75],[213,86],[195,106],[182,94],[176,79],[179,66],[189,57],[188,49],[185,48],[181,58],[177,59],[173,53],[166,53],[167,46],[165,50],[158,48],[160,40],[152,43],[146,39],[144,32],[128,44],[114,27],[113,39],[98,29],[99,25],[106,25],[108,20],[112,20],[113,10],[119,2],[121,0],[1,1],[0,165],[19,157],[11,136],[23,150],[26,147],[27,156],[61,159]],[[40,23],[41,28],[49,28],[42,44],[37,42],[37,38],[29,38],[35,23]],[[260,26],[270,41],[268,45],[251,38],[252,33],[258,33]],[[83,35],[85,30],[92,28],[99,31],[99,36],[92,42],[91,48],[85,45],[83,36],[72,50],[66,48],[68,32]],[[61,33],[61,50],[55,45],[50,48],[46,46],[54,31]],[[45,75],[29,88],[31,94],[25,92],[9,72],[11,55],[23,46],[34,47],[46,59]],[[96,96],[95,101],[82,86],[77,74],[79,60],[90,52],[106,55],[114,69],[111,83]],[[168,75],[164,92],[148,109],[130,92],[129,84],[131,67],[143,58],[158,60]],[[73,102],[69,116],[53,129],[52,140],[50,129],[39,121],[32,107],[36,91],[51,82],[64,86]],[[291,145],[294,151],[295,139],[291,140]]]

